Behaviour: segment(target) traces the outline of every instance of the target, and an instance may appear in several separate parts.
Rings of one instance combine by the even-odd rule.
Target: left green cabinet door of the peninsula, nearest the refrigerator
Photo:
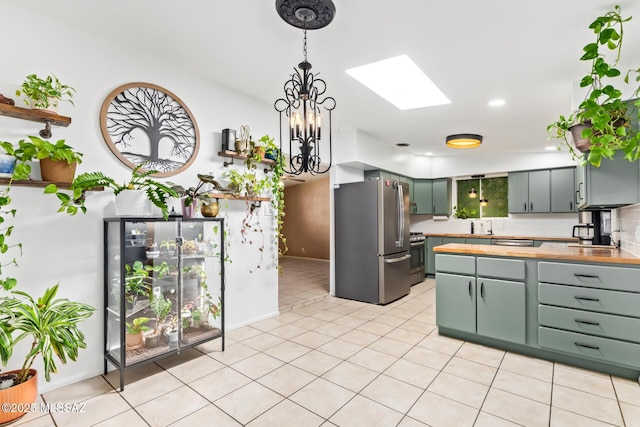
[[[476,278],[460,274],[436,275],[438,326],[476,332]]]

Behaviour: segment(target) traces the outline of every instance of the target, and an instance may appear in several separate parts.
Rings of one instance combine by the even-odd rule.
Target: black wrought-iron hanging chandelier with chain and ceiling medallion
[[[307,30],[329,25],[336,8],[331,0],[276,0],[276,10],[285,22],[304,32],[304,60],[297,69],[294,68],[291,79],[284,84],[284,98],[274,104],[280,113],[281,153],[286,151],[283,150],[283,145],[286,146],[283,144],[283,116],[287,123],[289,161],[285,172],[292,175],[303,172],[322,174],[331,168],[331,111],[336,108],[336,101],[325,95],[327,85],[318,78],[318,73],[311,73],[311,64],[307,61]],[[323,137],[323,142],[328,140],[328,143],[324,143],[321,152],[320,140]],[[328,160],[326,156],[321,157],[327,153]]]

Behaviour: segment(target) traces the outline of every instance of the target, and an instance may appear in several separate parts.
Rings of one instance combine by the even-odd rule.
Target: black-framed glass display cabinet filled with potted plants
[[[220,338],[224,219],[104,220],[105,360],[120,371]]]

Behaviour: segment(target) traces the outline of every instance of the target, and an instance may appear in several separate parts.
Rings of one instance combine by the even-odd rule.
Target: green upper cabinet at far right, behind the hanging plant
[[[630,162],[624,155],[602,159],[600,167],[591,164],[576,170],[576,203],[578,209],[616,208],[640,202],[639,162]]]

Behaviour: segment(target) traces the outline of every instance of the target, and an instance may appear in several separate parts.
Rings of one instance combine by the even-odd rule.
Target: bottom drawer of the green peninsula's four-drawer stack
[[[640,344],[594,337],[577,332],[538,328],[540,347],[633,368],[640,367]]]

